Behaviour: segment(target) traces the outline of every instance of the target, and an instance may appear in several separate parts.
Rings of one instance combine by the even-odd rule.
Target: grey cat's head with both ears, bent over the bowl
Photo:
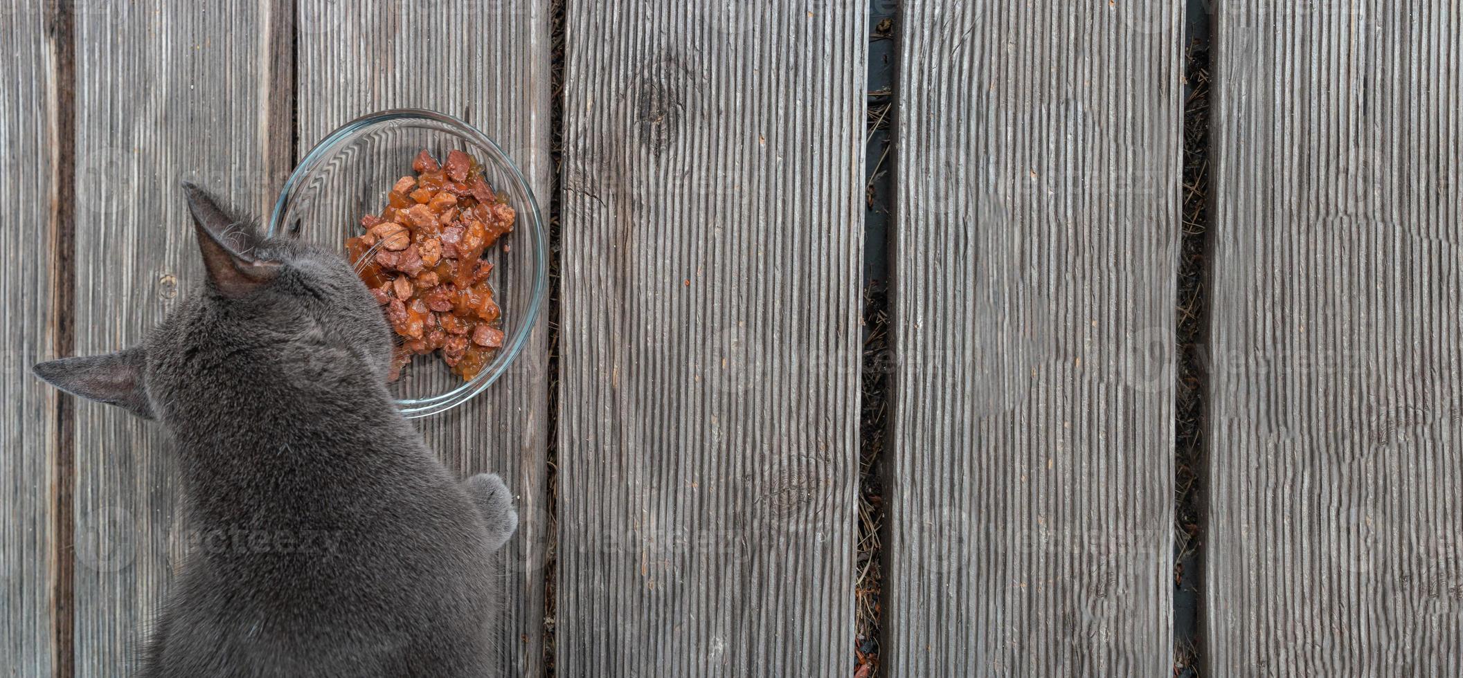
[[[164,421],[170,409],[218,397],[221,378],[249,383],[259,397],[301,384],[385,383],[391,330],[338,251],[265,238],[252,219],[198,186],[184,183],[183,191],[208,272],[203,285],[140,346],[41,362],[37,376]]]

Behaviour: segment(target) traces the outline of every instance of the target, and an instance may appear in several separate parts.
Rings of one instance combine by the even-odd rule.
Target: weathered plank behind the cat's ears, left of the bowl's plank
[[[263,212],[278,181],[269,3],[145,0],[76,12],[76,351],[139,342],[202,275],[177,183]],[[277,134],[269,134],[271,123]],[[287,129],[285,129],[287,132]],[[186,533],[162,433],[76,412],[76,674],[113,677],[162,599]]]

